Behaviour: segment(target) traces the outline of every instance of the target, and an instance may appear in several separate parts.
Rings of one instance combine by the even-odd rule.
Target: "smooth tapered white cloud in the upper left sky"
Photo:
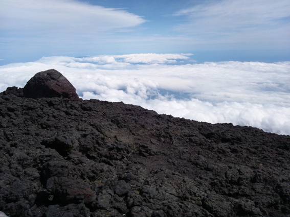
[[[0,29],[36,34],[35,37],[60,35],[84,37],[131,28],[145,22],[142,17],[124,10],[104,8],[76,0],[2,0]]]

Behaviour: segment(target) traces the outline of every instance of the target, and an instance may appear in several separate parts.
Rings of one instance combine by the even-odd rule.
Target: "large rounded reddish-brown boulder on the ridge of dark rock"
[[[55,69],[37,73],[27,82],[23,92],[26,98],[60,97],[79,100],[74,86]]]

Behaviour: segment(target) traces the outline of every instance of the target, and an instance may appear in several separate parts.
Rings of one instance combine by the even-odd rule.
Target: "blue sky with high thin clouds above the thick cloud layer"
[[[198,62],[289,60],[290,2],[0,2],[0,65],[130,53],[192,53]]]

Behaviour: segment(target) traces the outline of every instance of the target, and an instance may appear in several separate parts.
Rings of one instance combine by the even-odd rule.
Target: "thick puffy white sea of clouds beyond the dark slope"
[[[55,68],[83,99],[290,135],[290,62],[195,63],[191,54],[43,57],[0,66],[0,91]]]

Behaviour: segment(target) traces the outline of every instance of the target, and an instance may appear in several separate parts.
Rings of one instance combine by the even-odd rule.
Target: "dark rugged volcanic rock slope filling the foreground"
[[[290,136],[79,100],[57,71],[37,76],[0,93],[7,216],[290,216]]]

